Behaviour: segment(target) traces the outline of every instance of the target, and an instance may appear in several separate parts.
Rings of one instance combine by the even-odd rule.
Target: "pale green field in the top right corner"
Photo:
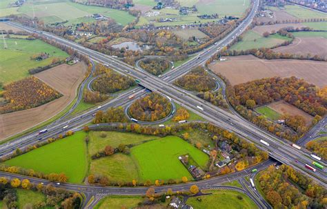
[[[284,10],[299,19],[327,18],[324,12],[316,12],[296,5],[286,5]]]

